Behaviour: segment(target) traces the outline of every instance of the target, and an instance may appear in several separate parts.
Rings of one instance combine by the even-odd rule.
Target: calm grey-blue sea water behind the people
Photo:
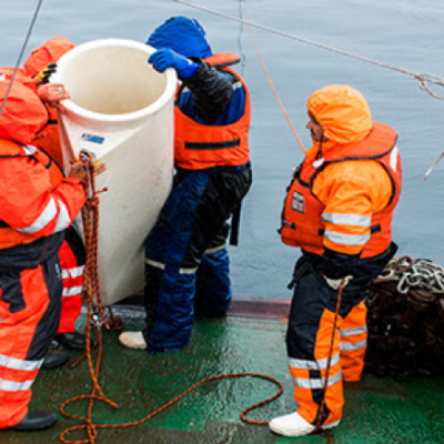
[[[37,0],[2,0],[0,65],[13,65],[38,6]],[[312,44],[252,28],[260,56],[305,148],[310,134],[305,103],[331,83],[347,83],[367,99],[373,119],[398,133],[404,188],[393,222],[400,255],[444,265],[444,101],[418,88],[408,74],[444,77],[442,0],[195,0],[195,4],[384,63],[380,67]],[[246,13],[246,16],[245,16]],[[290,297],[286,289],[297,249],[283,245],[276,230],[292,169],[302,150],[284,118],[245,24],[173,0],[44,0],[24,52],[54,36],[79,44],[94,39],[145,41],[171,16],[196,18],[214,52],[242,56],[239,72],[252,94],[253,186],[242,206],[239,246],[230,246],[234,294]],[[125,79],[121,79],[122,84]],[[431,85],[444,95],[444,88]],[[122,223],[124,223],[122,221]]]

